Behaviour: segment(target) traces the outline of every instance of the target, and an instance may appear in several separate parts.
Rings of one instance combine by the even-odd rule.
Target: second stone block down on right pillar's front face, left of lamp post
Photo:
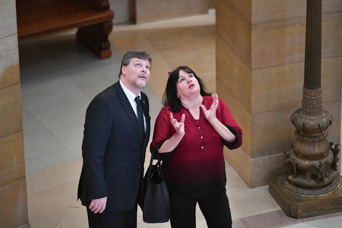
[[[252,25],[252,69],[304,61],[305,17]]]

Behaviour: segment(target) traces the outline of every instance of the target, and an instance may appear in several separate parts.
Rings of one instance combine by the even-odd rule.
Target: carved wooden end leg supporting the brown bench
[[[112,29],[112,21],[80,27],[76,32],[76,38],[101,59],[108,58],[111,56],[108,36]]]

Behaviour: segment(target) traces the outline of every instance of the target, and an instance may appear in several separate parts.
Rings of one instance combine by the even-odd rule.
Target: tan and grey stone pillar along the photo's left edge
[[[29,227],[15,0],[0,0],[0,227]]]

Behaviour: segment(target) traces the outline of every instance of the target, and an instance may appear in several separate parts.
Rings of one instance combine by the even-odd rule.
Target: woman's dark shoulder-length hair
[[[171,111],[178,112],[181,109],[181,100],[177,97],[177,82],[179,78],[179,71],[183,70],[187,73],[192,73],[194,77],[197,79],[199,88],[200,88],[200,94],[201,96],[211,96],[211,92],[209,92],[203,81],[196,75],[196,73],[187,66],[179,66],[174,70],[171,70],[169,72],[169,79],[166,84],[166,89],[162,98],[163,105],[169,105],[171,107]]]

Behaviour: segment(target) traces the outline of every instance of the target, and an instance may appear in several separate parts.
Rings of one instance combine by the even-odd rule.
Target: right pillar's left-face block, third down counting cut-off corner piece
[[[216,77],[251,112],[251,69],[216,36]]]

